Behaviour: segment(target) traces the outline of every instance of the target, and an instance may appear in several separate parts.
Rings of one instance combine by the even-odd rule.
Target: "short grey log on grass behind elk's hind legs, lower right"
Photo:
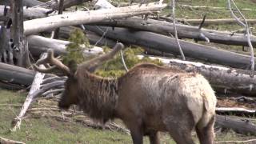
[[[223,129],[234,130],[238,134],[256,135],[256,126],[249,120],[231,118],[229,116],[216,115],[215,126]]]

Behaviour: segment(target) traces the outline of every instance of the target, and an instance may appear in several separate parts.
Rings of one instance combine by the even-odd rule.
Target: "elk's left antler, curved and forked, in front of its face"
[[[54,66],[50,66],[46,69],[42,69],[38,67],[38,65],[47,64],[47,63],[50,63],[51,65],[54,65]],[[60,60],[58,60],[58,58],[54,58],[54,51],[51,49],[47,50],[47,57],[38,60],[38,62],[36,62],[33,65],[33,67],[34,67],[34,70],[37,70],[41,73],[50,73],[54,70],[54,68],[57,67],[58,69],[62,70],[65,74],[67,75],[70,74],[70,69],[67,66],[65,66]]]

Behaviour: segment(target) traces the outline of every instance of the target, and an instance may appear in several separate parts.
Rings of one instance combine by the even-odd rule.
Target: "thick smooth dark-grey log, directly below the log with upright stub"
[[[175,55],[180,54],[175,39],[161,34],[124,28],[115,28],[112,30],[111,27],[106,26],[86,26],[86,29],[99,35],[104,34],[106,38],[115,39],[121,42],[144,46]],[[247,55],[237,54],[227,50],[220,50],[212,46],[203,46],[183,40],[179,40],[179,42],[186,57],[196,58],[202,61],[217,63],[234,68],[250,68],[250,57]]]

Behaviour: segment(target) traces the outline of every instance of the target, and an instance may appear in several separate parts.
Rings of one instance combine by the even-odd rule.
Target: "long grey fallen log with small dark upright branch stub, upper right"
[[[139,17],[116,19],[114,21],[105,20],[102,22],[92,23],[90,25],[126,27],[135,30],[151,31],[157,34],[170,36],[174,34],[174,26],[170,22],[158,21],[154,19],[143,20]],[[198,26],[186,26],[176,24],[178,38],[194,38],[196,40],[205,41],[202,34],[209,38],[210,42],[222,43],[226,45],[248,46],[247,38],[244,34],[236,34],[233,32],[224,32],[218,30],[198,29]],[[256,46],[256,37],[251,36],[253,46]]]

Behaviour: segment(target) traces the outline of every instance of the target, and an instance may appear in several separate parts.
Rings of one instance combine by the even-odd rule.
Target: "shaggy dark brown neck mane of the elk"
[[[118,79],[102,78],[86,70],[77,71],[78,106],[91,118],[106,122],[115,117],[118,102]]]

